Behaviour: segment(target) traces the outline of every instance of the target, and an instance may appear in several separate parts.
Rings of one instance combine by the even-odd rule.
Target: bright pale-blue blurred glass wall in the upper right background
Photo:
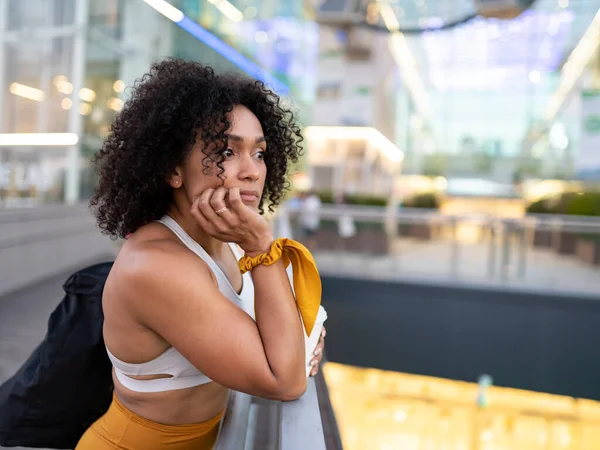
[[[433,17],[432,8],[442,3],[450,4],[427,2],[415,13],[418,26],[434,29],[406,34],[432,112],[423,120],[410,96],[401,95],[397,125],[399,144],[407,149],[407,172],[506,183],[522,176],[572,176],[581,133],[580,93],[591,88],[589,78],[580,79],[557,116],[549,122],[546,116],[562,69],[598,12],[598,2],[539,0],[511,20],[479,17],[436,30],[450,14]],[[396,13],[406,26],[411,13],[400,10]],[[532,140],[535,130],[542,131],[541,139]],[[429,131],[430,142],[423,139]]]

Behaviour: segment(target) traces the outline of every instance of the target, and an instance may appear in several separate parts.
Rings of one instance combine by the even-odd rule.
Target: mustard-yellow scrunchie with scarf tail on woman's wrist
[[[294,272],[294,292],[296,303],[302,316],[302,322],[307,336],[315,326],[319,306],[321,305],[321,277],[317,264],[308,249],[292,239],[277,239],[271,245],[269,253],[251,258],[244,256],[239,261],[242,274],[254,269],[258,265],[270,266],[283,258],[285,267],[292,263]]]

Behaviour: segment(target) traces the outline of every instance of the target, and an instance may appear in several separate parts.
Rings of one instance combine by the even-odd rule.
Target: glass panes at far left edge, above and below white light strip
[[[69,131],[75,11],[75,0],[0,2],[1,133]],[[62,201],[67,160],[65,146],[0,146],[0,202]]]

